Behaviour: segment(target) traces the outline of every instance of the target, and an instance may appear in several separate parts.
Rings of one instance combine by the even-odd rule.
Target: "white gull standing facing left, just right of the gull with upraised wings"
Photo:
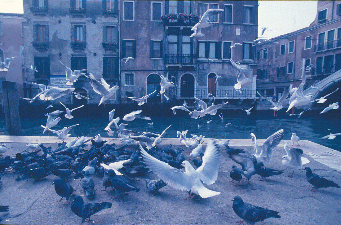
[[[299,170],[302,165],[310,163],[307,158],[301,157],[303,154],[302,149],[290,148],[289,144],[285,144],[284,150],[286,152],[286,155],[283,155],[279,159],[282,160],[282,164],[283,166],[285,166],[285,169],[293,169],[293,173],[288,177],[293,177],[295,170]],[[281,172],[283,172],[285,169],[283,169]]]

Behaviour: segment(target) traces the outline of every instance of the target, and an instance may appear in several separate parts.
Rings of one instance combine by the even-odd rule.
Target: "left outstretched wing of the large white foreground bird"
[[[141,145],[141,156],[147,167],[153,171],[159,178],[165,181],[169,186],[180,190],[189,191],[194,184],[194,177],[189,176],[187,173],[180,169],[176,169],[165,162],[161,162],[148,154]]]

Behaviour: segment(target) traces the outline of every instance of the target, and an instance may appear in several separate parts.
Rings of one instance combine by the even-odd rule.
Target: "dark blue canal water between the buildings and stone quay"
[[[178,114],[178,113],[177,113]],[[224,117],[227,115],[224,115]],[[34,119],[22,119],[21,127],[23,129],[23,135],[32,136],[47,136],[42,134],[43,128],[41,124],[46,124],[47,117],[34,118]],[[291,134],[295,132],[300,139],[307,139],[318,144],[327,146],[329,148],[341,151],[341,136],[337,136],[333,140],[320,139],[321,137],[328,135],[329,133],[340,133],[340,118],[334,117],[321,118],[321,117],[309,117],[309,118],[271,118],[265,115],[250,115],[242,116],[242,118],[224,118],[224,122],[217,116],[214,116],[211,123],[207,123],[199,118],[197,120],[189,118],[188,115],[184,116],[164,116],[164,117],[153,117],[153,126],[150,126],[148,120],[135,119],[130,121],[130,125],[127,129],[131,129],[137,132],[150,131],[150,132],[162,132],[167,126],[173,124],[167,130],[167,136],[165,137],[176,137],[176,131],[188,130],[188,134],[204,135],[210,138],[227,138],[227,139],[249,139],[250,132],[255,133],[258,139],[265,139],[269,135],[275,133],[277,130],[284,128],[285,133],[283,139],[290,139]],[[108,118],[73,118],[63,119],[58,123],[57,126],[53,127],[54,130],[62,129],[64,126],[70,126],[79,123],[73,130],[71,130],[71,136],[77,135],[89,135],[94,136],[95,134],[101,134],[102,137],[108,137],[104,127],[108,124]],[[120,121],[120,123],[122,120]],[[124,122],[124,121],[123,121]],[[126,122],[125,122],[126,123]],[[233,125],[227,125],[226,123],[232,123]],[[198,128],[198,124],[201,125]],[[328,130],[330,129],[330,130]],[[0,119],[0,131],[8,134],[6,130],[6,124],[4,118]],[[51,134],[55,135],[55,134]],[[188,135],[190,136],[190,135]]]

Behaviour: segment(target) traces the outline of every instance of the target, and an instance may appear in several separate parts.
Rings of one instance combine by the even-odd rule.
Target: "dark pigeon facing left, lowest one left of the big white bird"
[[[72,204],[71,204],[71,211],[73,213],[75,213],[77,216],[79,216],[80,218],[82,218],[82,223],[84,222],[89,222],[90,220],[92,220],[90,218],[90,216],[92,216],[93,214],[103,210],[103,209],[108,209],[111,208],[112,203],[109,202],[102,202],[102,203],[88,203],[88,202],[84,202],[83,198],[79,195],[76,195],[73,198]],[[86,218],[89,218],[87,220],[85,220]]]

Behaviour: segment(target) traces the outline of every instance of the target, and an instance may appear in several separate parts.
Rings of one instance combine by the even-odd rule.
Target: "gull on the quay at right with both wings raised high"
[[[260,147],[257,145],[256,136],[254,135],[254,133],[251,133],[253,149],[256,151],[254,156],[256,157],[257,162],[262,163],[270,162],[273,152],[275,151],[275,148],[282,140],[283,134],[284,129],[275,132],[264,141],[262,149],[260,149]]]

